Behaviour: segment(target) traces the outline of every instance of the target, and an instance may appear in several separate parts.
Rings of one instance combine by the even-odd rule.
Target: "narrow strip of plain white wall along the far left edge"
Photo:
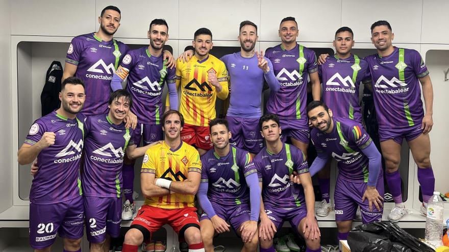
[[[12,146],[12,124],[11,124],[11,16],[10,2],[0,0],[0,76],[2,78],[2,99],[0,108],[2,121],[0,124],[0,212],[12,206],[12,169],[15,162],[14,153],[17,150]]]

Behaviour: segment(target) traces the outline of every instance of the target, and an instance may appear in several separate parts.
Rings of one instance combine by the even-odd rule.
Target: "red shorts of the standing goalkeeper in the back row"
[[[181,131],[181,140],[203,150],[210,150],[213,147],[209,127],[205,126],[184,124],[183,130]]]

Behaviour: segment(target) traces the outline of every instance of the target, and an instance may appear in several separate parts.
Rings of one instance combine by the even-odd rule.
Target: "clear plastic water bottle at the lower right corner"
[[[443,212],[443,200],[440,197],[440,193],[434,191],[432,198],[427,203],[426,240],[435,247],[442,245]]]

